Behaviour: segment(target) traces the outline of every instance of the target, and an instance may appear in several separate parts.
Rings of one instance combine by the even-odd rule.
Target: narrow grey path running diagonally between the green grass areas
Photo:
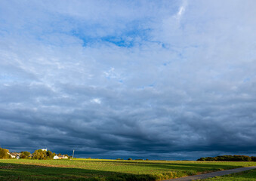
[[[194,176],[185,176],[185,177],[177,178],[177,179],[166,179],[164,181],[191,181],[191,180],[196,180],[196,179],[208,179],[208,178],[211,178],[211,177],[214,177],[214,176],[224,176],[224,175],[228,175],[228,174],[231,174],[231,173],[238,173],[238,172],[251,170],[251,169],[256,169],[256,166],[241,167],[241,168],[235,168],[235,169],[230,169],[230,170],[204,173],[204,174],[194,175]]]

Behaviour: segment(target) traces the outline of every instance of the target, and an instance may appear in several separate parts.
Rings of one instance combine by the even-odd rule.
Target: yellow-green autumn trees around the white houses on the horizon
[[[11,155],[9,155],[8,153],[9,150],[8,149],[2,149],[0,148],[0,158],[11,158]],[[47,159],[53,159],[55,155],[60,156],[61,154],[56,154],[54,152],[51,152],[50,150],[48,151],[44,151],[42,149],[37,149],[35,150],[35,152],[33,152],[32,154],[30,152],[20,152],[20,158],[32,158],[32,159],[37,159],[37,160],[47,160]],[[65,155],[69,158],[69,155]]]

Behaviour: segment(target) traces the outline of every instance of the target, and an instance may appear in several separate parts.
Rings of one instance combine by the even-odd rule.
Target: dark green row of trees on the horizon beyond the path
[[[197,159],[197,161],[256,161],[256,157],[246,155],[221,155],[216,157],[202,157]]]

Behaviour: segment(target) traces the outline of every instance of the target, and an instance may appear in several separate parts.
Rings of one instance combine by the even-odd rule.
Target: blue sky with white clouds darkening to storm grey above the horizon
[[[0,146],[256,155],[254,0],[0,1]]]

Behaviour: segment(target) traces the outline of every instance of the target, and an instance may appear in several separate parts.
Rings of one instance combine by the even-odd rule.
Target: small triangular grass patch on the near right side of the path
[[[256,169],[241,173],[233,173],[227,176],[216,176],[211,179],[201,179],[202,181],[253,181],[256,180]]]

